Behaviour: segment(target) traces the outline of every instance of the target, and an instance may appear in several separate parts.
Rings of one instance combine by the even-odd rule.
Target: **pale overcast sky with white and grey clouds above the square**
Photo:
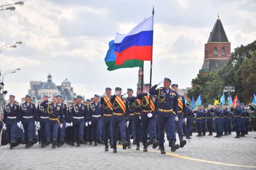
[[[17,1],[1,0],[0,5]],[[107,71],[104,58],[116,32],[126,34],[137,23],[154,17],[152,84],[170,77],[180,88],[191,87],[204,62],[204,44],[220,14],[231,50],[256,37],[256,1],[86,1],[25,0],[15,11],[0,11],[0,46],[23,41],[0,54],[5,90],[25,96],[30,80],[57,85],[69,79],[75,92],[104,93],[105,87],[136,89],[138,68]],[[149,62],[145,62],[149,82]]]

